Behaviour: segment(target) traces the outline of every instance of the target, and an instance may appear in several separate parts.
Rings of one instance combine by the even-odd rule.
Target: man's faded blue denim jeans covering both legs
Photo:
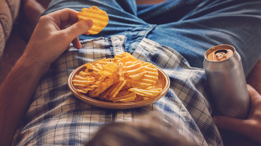
[[[125,47],[132,53],[146,37],[199,68],[207,49],[228,44],[240,54],[246,75],[261,55],[260,0],[167,0],[142,9],[135,0],[53,0],[44,14],[92,5],[108,13],[109,23],[99,34],[79,36],[81,40],[125,35]]]

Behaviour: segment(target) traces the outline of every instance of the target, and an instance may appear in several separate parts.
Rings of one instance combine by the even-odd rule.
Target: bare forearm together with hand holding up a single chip
[[[50,64],[68,49],[70,42],[81,48],[78,36],[86,34],[93,22],[77,22],[77,15],[77,11],[66,8],[40,17],[24,54],[0,87],[0,145],[11,145],[17,125]],[[65,28],[67,25],[71,26]]]

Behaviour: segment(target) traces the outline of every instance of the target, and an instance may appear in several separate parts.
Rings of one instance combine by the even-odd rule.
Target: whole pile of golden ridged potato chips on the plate
[[[126,103],[149,99],[162,91],[154,89],[158,80],[156,66],[127,52],[84,66],[85,71],[72,81],[77,92],[89,93],[91,98]]]

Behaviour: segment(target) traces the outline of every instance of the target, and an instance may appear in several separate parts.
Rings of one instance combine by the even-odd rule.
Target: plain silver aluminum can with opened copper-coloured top
[[[230,45],[218,45],[205,53],[203,66],[211,97],[219,115],[246,119],[250,97],[240,55]]]

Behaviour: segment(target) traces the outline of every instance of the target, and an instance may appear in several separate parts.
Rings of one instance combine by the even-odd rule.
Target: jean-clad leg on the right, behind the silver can
[[[156,26],[146,38],[174,48],[191,66],[200,68],[207,49],[232,45],[247,75],[261,55],[260,7],[261,2],[255,0],[207,0],[179,21]]]

